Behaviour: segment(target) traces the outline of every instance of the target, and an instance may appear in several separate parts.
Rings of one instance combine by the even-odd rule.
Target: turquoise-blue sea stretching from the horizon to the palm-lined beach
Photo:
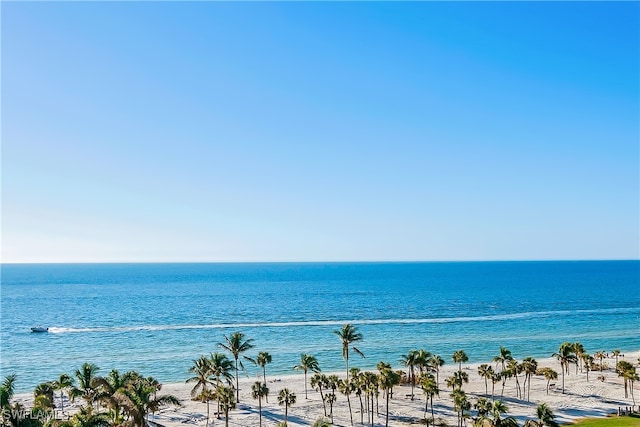
[[[563,341],[588,352],[640,349],[640,262],[442,262],[2,265],[0,375],[18,388],[72,373],[136,369],[184,381],[193,359],[237,330],[293,373],[301,352],[342,369],[332,331],[356,324],[366,359],[398,365],[424,348],[450,362],[499,347],[549,357]],[[47,334],[30,327],[48,326]],[[254,376],[248,366],[246,375]]]

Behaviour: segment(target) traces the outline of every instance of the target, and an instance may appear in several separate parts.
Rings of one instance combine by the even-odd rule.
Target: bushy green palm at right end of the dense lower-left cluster
[[[136,427],[147,426],[147,415],[164,405],[182,406],[180,399],[170,394],[155,396],[157,391],[146,380],[138,380],[118,390],[116,398]]]

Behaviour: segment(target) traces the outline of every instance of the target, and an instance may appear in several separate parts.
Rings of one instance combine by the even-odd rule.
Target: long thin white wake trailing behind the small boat
[[[291,322],[259,322],[259,323],[217,323],[209,325],[140,325],[118,327],[95,328],[64,328],[50,327],[49,332],[54,334],[79,333],[79,332],[134,332],[134,331],[172,331],[182,329],[232,329],[232,328],[289,328],[298,326],[341,326],[345,323],[354,325],[389,325],[389,324],[421,324],[421,323],[458,323],[458,322],[487,322],[505,321],[514,319],[526,319],[536,317],[551,317],[578,315],[588,313],[633,313],[640,312],[640,308],[611,308],[593,310],[556,310],[537,311],[512,314],[498,314],[487,316],[469,317],[435,317],[425,319],[343,319],[343,320],[304,320]]]

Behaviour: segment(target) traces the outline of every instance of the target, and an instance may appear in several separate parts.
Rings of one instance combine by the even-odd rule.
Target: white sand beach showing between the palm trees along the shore
[[[626,353],[620,360],[627,360],[634,365],[638,363],[640,351]],[[605,359],[605,364],[614,366],[613,358]],[[495,366],[495,364],[493,364]],[[463,364],[462,369],[469,375],[469,383],[463,386],[472,404],[478,397],[485,396],[484,380],[478,375],[479,364]],[[538,367],[551,367],[560,373],[559,363],[552,358],[538,360]],[[451,389],[447,389],[444,379],[453,374],[458,366],[447,363],[441,368],[439,374],[440,397],[434,398],[434,412],[436,423],[446,422],[447,425],[456,425],[456,413],[452,408],[452,399],[449,397]],[[406,370],[405,370],[406,371]],[[336,372],[340,377],[344,372]],[[598,378],[599,376],[604,377]],[[310,378],[311,375],[308,376]],[[522,383],[522,376],[520,383]],[[240,379],[240,404],[229,414],[229,425],[231,426],[257,426],[258,402],[251,397],[251,385],[261,380],[261,378],[241,378]],[[630,407],[633,403],[631,396],[624,397],[624,385],[621,378],[609,368],[602,373],[595,371],[589,373],[587,381],[586,371],[576,374],[575,366],[572,366],[570,373],[565,375],[565,392],[562,393],[562,377],[551,381],[551,387],[547,394],[547,380],[539,375],[533,377],[531,381],[530,401],[516,398],[515,380],[506,382],[504,396],[500,398],[501,383],[496,384],[496,400],[502,400],[508,406],[508,415],[514,416],[520,424],[524,420],[535,418],[536,406],[540,403],[547,403],[556,415],[556,421],[569,423],[583,417],[603,417],[616,413],[619,407]],[[284,407],[277,403],[278,392],[287,387],[297,396],[295,405],[289,408],[289,426],[309,426],[323,415],[323,405],[318,391],[309,387],[309,398],[305,400],[304,375],[295,374],[287,376],[270,376],[267,371],[267,385],[269,387],[268,403],[263,402],[262,420],[264,426],[275,426],[284,420]],[[170,383],[162,387],[160,394],[173,394],[183,402],[182,407],[166,407],[161,409],[150,420],[166,427],[182,427],[186,425],[205,426],[206,424],[206,404],[193,401],[190,398],[192,385],[185,383]],[[634,386],[636,401],[640,402],[640,389],[636,383]],[[389,425],[407,426],[424,424],[425,396],[419,387],[415,389],[414,400],[410,399],[410,385],[402,385],[394,388],[393,398],[390,399]],[[333,408],[333,421],[336,426],[351,425],[346,397],[336,392],[337,400]],[[491,383],[489,383],[489,396],[491,397]],[[17,401],[22,401],[27,405],[32,400],[31,395],[22,394],[16,396]],[[360,424],[360,403],[358,397],[351,396],[353,407],[354,424]],[[72,404],[73,407],[74,404]],[[385,399],[382,393],[379,398],[379,415],[374,417],[375,425],[385,423]],[[73,409],[71,409],[73,410]],[[209,425],[224,425],[222,418],[215,416],[216,402],[210,403],[211,419]],[[471,411],[472,414],[475,411]],[[364,421],[366,423],[365,414]]]

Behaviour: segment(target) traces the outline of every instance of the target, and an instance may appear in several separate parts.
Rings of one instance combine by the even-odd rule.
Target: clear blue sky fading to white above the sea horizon
[[[638,2],[2,2],[1,260],[640,258]]]

